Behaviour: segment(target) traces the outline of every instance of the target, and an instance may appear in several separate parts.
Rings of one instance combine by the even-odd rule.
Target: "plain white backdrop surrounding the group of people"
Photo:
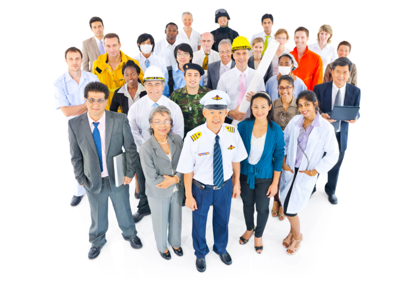
[[[410,41],[409,32],[400,30],[408,17],[404,6],[397,6],[396,1],[366,4],[306,0],[288,3],[72,0],[23,1],[2,6],[1,72],[6,109],[2,113],[2,175],[6,180],[0,205],[2,269],[5,270],[2,278],[39,277],[47,281],[117,277],[150,281],[405,278],[410,185],[403,175],[407,175],[405,161],[410,155],[406,137],[410,134],[409,122],[400,126],[399,120],[408,109],[406,48]],[[200,33],[211,31],[218,27],[214,23],[214,11],[219,8],[228,10],[229,26],[248,39],[262,30],[261,16],[271,13],[273,30],[285,28],[289,32],[289,48],[295,46],[292,37],[297,27],[309,29],[311,44],[322,24],[332,26],[334,46],[343,40],[351,43],[349,58],[357,65],[362,92],[361,118],[350,125],[336,193],[339,204],[329,204],[323,188],[326,176],[320,176],[317,192],[308,208],[300,213],[302,247],[289,256],[281,245],[289,223],[271,216],[263,236],[262,254],[254,251],[253,238],[246,246],[238,244],[238,237],[246,227],[241,200],[234,199],[228,245],[233,264],[224,265],[211,251],[206,258],[207,271],[201,274],[195,269],[188,208],[183,208],[184,256],[172,253],[172,259],[166,261],[156,249],[151,216],[136,225],[144,246],[135,250],[121,237],[110,206],[107,244],[97,259],[88,259],[89,205],[86,196],[79,206],[69,205],[72,180],[68,172],[72,168],[65,118],[61,111],[55,110],[54,104],[53,82],[67,69],[64,51],[71,46],[81,49],[81,42],[93,35],[88,26],[92,16],[100,16],[105,34],[117,33],[121,50],[133,57],[138,52],[136,42],[141,33],[151,33],[158,42],[165,36],[164,27],[169,22],[178,24],[183,32],[184,11],[193,13],[193,29]],[[400,129],[404,133],[399,133]],[[400,176],[393,177],[394,172]],[[138,203],[132,188],[134,182],[130,187],[134,213]],[[212,249],[211,220],[207,239]]]

